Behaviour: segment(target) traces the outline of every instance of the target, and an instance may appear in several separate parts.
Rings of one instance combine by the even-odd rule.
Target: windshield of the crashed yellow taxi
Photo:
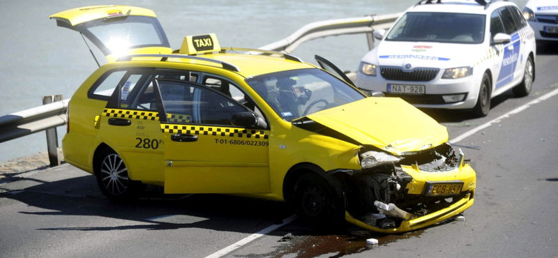
[[[269,73],[246,82],[287,121],[365,98],[338,77],[319,69]]]

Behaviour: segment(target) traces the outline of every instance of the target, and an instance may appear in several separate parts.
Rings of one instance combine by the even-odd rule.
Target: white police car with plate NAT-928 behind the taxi
[[[364,56],[357,86],[416,107],[490,111],[513,89],[527,96],[535,79],[534,31],[508,1],[421,1],[407,9]]]

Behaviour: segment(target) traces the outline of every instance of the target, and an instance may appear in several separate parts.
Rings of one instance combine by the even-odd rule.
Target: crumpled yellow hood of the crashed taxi
[[[360,144],[395,155],[448,141],[446,127],[400,98],[365,98],[307,117]]]

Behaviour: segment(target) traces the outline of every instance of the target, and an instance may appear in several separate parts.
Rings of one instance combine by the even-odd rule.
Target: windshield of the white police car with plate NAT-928
[[[468,13],[405,13],[386,40],[482,43],[485,15]]]

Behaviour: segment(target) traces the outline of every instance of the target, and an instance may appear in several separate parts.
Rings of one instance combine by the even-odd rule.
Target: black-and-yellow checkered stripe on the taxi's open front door
[[[220,137],[237,137],[248,139],[269,139],[269,132],[266,132],[264,130],[243,130],[238,128],[223,128],[213,126],[161,125],[161,131],[186,135],[212,135]]]

